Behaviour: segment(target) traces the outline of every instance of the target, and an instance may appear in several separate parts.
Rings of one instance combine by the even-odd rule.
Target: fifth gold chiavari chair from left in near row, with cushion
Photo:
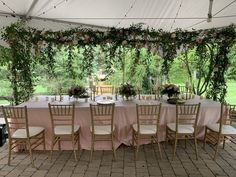
[[[197,151],[197,121],[199,117],[199,104],[176,104],[176,122],[166,126],[166,143],[169,139],[174,140],[173,158],[175,158],[177,142],[180,139],[194,139],[196,159]]]

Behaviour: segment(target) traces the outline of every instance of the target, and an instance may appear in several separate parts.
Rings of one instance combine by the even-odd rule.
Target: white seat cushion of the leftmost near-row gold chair
[[[29,127],[29,137],[36,136],[40,134],[42,131],[44,131],[43,127]],[[26,129],[25,128],[17,129],[12,134],[12,138],[19,138],[19,139],[27,138]]]

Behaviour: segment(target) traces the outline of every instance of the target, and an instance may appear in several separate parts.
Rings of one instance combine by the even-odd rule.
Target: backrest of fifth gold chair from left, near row
[[[176,132],[178,132],[179,124],[192,125],[196,130],[200,106],[201,103],[176,104]]]

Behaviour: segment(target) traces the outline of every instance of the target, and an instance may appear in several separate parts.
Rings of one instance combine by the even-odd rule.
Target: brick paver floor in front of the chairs
[[[75,162],[72,151],[55,151],[50,161],[49,151],[34,151],[35,164],[32,168],[27,153],[13,153],[11,166],[7,165],[7,144],[0,148],[0,176],[6,177],[236,177],[236,145],[227,142],[220,148],[216,161],[211,145],[202,149],[198,144],[199,159],[195,159],[194,146],[187,148],[180,142],[176,159],[172,161],[172,146],[162,144],[163,159],[158,148],[143,145],[139,157],[134,160],[134,149],[122,145],[117,149],[117,160],[112,160],[111,151],[95,151],[89,162],[90,151],[81,150]]]

